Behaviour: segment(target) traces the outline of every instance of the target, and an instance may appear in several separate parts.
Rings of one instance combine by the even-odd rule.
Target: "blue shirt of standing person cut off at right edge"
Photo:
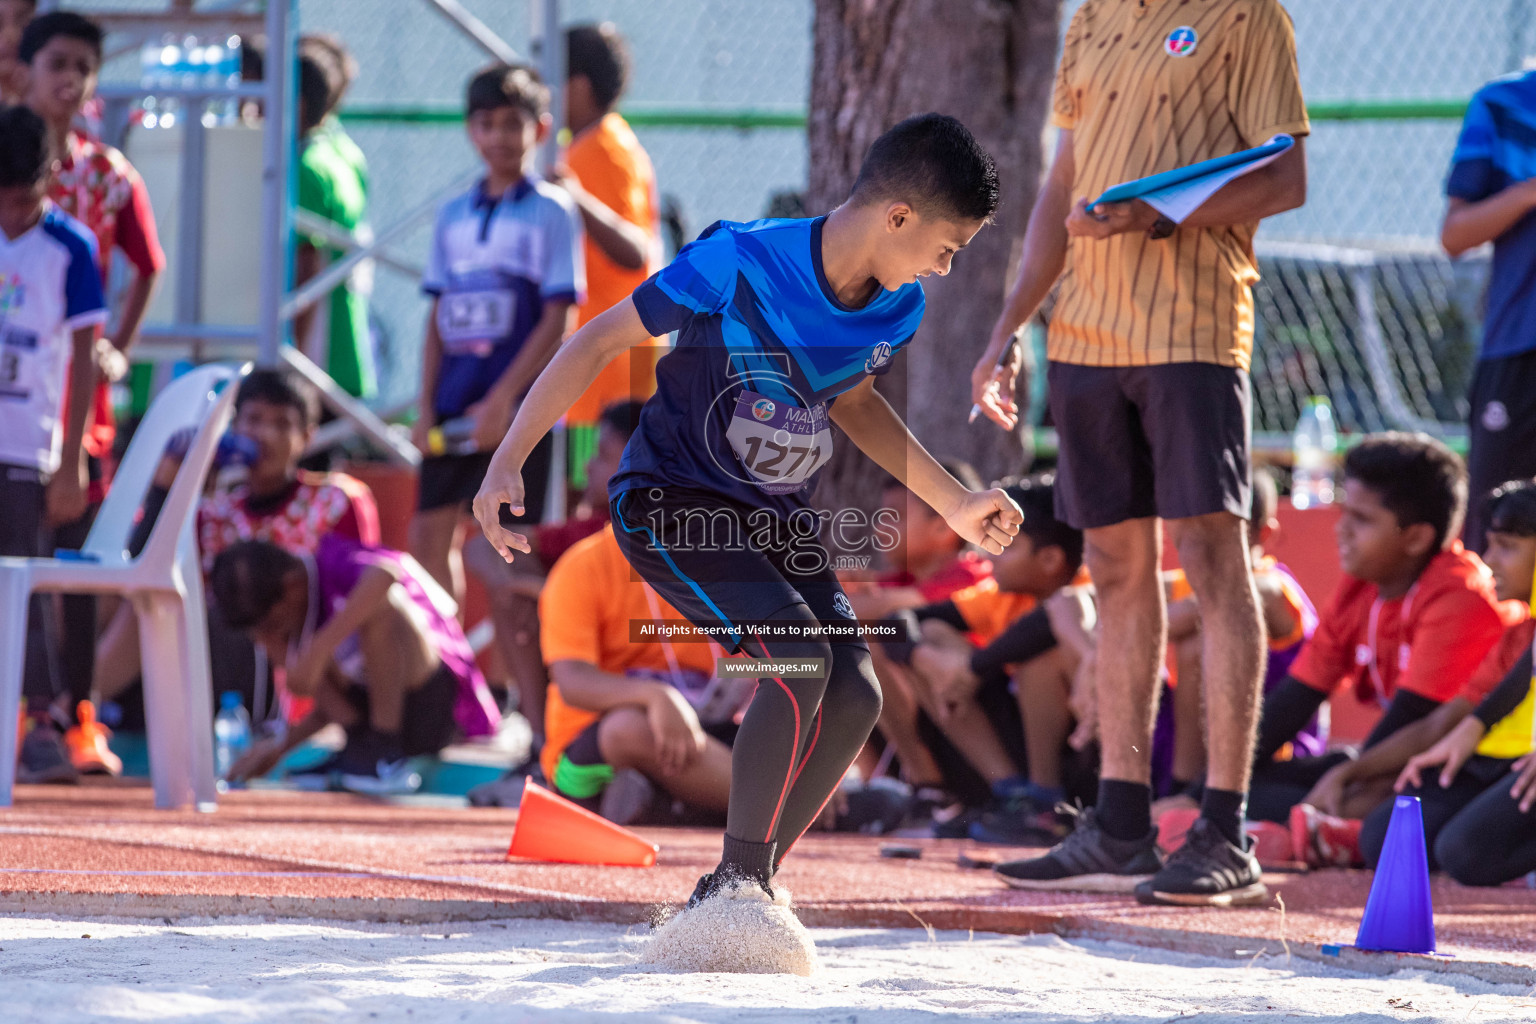
[[[1445,195],[1476,203],[1536,178],[1536,71],[1495,78],[1471,98]],[[1493,241],[1482,359],[1536,350],[1536,213]]]

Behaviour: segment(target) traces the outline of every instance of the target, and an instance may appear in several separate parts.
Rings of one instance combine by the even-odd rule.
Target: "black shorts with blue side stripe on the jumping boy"
[[[728,652],[740,649],[742,623],[800,603],[822,622],[854,622],[814,514],[797,531],[776,513],[719,494],[659,487],[616,494],[611,511],[630,567]]]

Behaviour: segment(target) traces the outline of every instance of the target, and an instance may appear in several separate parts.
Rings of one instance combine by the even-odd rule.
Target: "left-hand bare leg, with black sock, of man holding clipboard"
[[[1158,579],[1163,539],[1157,519],[1129,519],[1084,533],[1087,570],[1098,593],[1098,735],[1103,768],[1098,821],[1118,840],[1150,832],[1152,725],[1167,634]]]

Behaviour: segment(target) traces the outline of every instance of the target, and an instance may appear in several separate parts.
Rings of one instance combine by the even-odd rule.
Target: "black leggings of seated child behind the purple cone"
[[[1404,791],[1424,809],[1430,870],[1444,870],[1464,886],[1502,886],[1536,870],[1536,811],[1522,812],[1510,797],[1510,765],[1473,757],[1448,789],[1430,777],[1425,786]],[[1361,824],[1359,852],[1369,867],[1381,860],[1390,820],[1392,801],[1385,800]]]

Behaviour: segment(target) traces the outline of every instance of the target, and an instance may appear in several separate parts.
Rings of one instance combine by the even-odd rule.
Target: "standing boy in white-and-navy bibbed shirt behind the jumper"
[[[548,86],[531,68],[496,64],[470,80],[465,111],[485,177],[438,212],[422,278],[432,316],[412,439],[425,457],[410,524],[410,553],[459,600],[464,508],[587,290],[576,203],[531,173],[551,124]],[[435,427],[445,428],[447,450],[433,447]],[[519,520],[538,522],[550,473],[547,434],[525,471],[530,514]]]

